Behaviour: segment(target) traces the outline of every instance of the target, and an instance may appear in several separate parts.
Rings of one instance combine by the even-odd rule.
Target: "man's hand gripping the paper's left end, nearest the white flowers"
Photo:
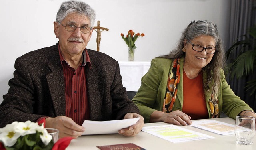
[[[45,128],[56,128],[59,130],[59,137],[71,136],[77,138],[81,136],[85,128],[76,124],[71,118],[57,116],[56,118],[46,118]]]

